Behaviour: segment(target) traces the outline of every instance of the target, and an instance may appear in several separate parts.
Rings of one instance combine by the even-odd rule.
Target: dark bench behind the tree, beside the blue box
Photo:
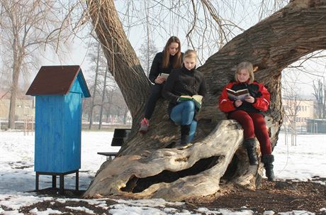
[[[125,143],[125,140],[128,138],[130,131],[130,128],[115,128],[111,141],[111,146],[123,145],[123,143]],[[117,153],[113,152],[99,152],[97,154],[106,156],[106,160],[113,160],[113,158],[115,158],[117,155]]]

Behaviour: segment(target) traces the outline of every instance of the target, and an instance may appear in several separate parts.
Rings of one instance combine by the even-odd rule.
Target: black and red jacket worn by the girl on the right
[[[242,101],[242,105],[235,107],[235,101],[230,100],[227,97],[227,88],[234,91],[239,89],[248,89],[249,94],[254,97],[254,103]],[[269,109],[270,95],[266,87],[256,81],[254,81],[252,84],[248,84],[248,82],[230,82],[224,87],[223,92],[220,95],[219,104],[220,110],[225,113],[230,113],[231,111],[235,110],[243,110],[250,113],[262,113]]]

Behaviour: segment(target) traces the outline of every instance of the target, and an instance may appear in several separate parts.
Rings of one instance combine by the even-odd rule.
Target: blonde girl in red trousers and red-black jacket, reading
[[[243,101],[233,101],[227,96],[227,89],[234,91],[248,89],[250,96]],[[241,62],[237,65],[235,81],[225,86],[219,101],[220,110],[227,113],[227,118],[238,121],[244,130],[243,145],[247,150],[249,164],[258,165],[257,154],[254,150],[254,138],[256,137],[262,152],[266,177],[269,181],[275,181],[274,156],[271,155],[271,141],[262,114],[269,108],[269,103],[269,92],[263,84],[254,81],[254,70],[250,62]]]

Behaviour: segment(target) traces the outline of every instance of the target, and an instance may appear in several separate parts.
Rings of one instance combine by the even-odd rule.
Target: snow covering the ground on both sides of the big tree
[[[81,134],[81,169],[79,172],[79,189],[86,189],[94,178],[100,165],[106,160],[105,156],[97,155],[100,151],[118,151],[118,147],[111,147],[112,132],[89,132]],[[286,145],[284,133],[280,133],[279,143],[274,149],[274,172],[278,180],[310,180],[314,176],[326,177],[326,135],[299,135],[297,145]],[[18,209],[36,202],[54,199],[64,202],[67,199],[44,197],[35,194],[34,165],[34,136],[23,136],[23,132],[0,131],[0,214],[18,214]],[[74,174],[64,177],[64,188],[74,189]],[[58,182],[59,180],[57,180]],[[51,177],[40,176],[40,189],[51,186]],[[325,185],[325,183],[324,183]],[[69,199],[72,201],[72,199]],[[81,199],[75,199],[80,201]],[[92,202],[103,206],[101,199],[82,201]],[[120,214],[227,214],[245,215],[254,214],[254,211],[243,209],[242,211],[229,211],[216,209],[210,211],[206,208],[198,208],[196,211],[176,211],[173,206],[184,204],[181,202],[165,202],[162,199],[149,199],[137,201],[114,200],[116,204],[106,206],[108,212],[114,215]],[[2,206],[2,207],[1,207]],[[105,207],[105,206],[104,206]],[[326,207],[326,206],[325,206]],[[86,211],[94,214],[86,208],[74,208],[77,211]],[[326,209],[323,208],[321,211]],[[267,211],[266,211],[267,212]],[[30,214],[60,214],[60,211],[30,211]],[[78,214],[78,213],[77,213]],[[309,211],[284,211],[284,215],[313,214]]]

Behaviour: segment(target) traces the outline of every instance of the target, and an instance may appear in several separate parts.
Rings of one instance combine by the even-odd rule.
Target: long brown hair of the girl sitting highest
[[[174,55],[174,60],[172,62],[172,68],[180,68],[181,64],[182,64],[182,60],[181,60],[181,43],[179,38],[177,38],[176,36],[172,36],[171,38],[169,38],[169,40],[167,40],[167,44],[164,46],[163,49],[163,68],[167,68],[169,67],[169,60],[170,60],[170,53],[169,53],[169,45],[171,45],[171,43],[178,43],[179,47],[178,47],[178,52]]]

